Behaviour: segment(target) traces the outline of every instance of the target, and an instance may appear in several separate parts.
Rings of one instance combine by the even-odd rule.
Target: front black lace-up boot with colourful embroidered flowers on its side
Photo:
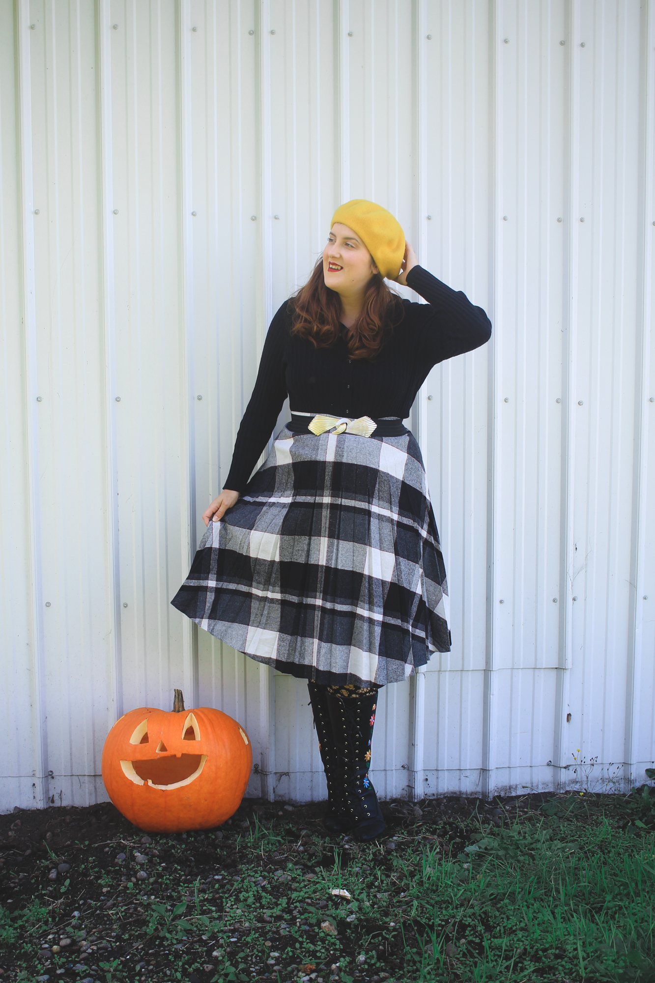
[[[351,818],[357,839],[375,839],[385,832],[376,790],[369,778],[371,740],[378,695],[342,697],[327,693],[327,709],[337,755],[336,782],[343,811]]]

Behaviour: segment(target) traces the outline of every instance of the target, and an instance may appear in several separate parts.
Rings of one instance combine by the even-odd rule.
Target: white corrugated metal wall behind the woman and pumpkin
[[[323,796],[305,685],[169,600],[355,197],[494,325],[412,411],[453,644],[382,691],[374,781],[643,778],[654,135],[654,0],[0,0],[3,809],[106,798],[174,686],[247,727],[251,794]]]

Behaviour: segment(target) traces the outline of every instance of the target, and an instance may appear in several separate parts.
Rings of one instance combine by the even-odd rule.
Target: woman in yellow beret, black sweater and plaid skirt
[[[230,472],[172,601],[308,680],[330,832],[385,830],[368,777],[377,691],[450,651],[439,533],[402,421],[434,365],[490,337],[484,311],[418,265],[385,208],[337,208],[322,259],[270,322]],[[251,478],[287,394],[291,422]]]

